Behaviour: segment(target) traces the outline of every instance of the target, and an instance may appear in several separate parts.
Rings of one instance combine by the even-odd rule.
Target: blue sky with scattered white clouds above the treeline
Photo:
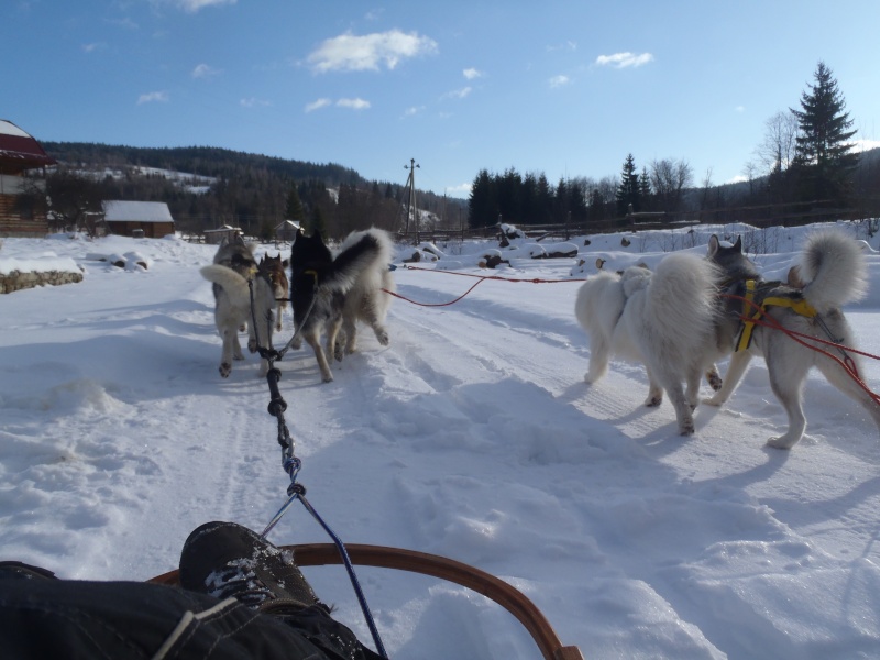
[[[0,118],[208,145],[466,197],[480,169],[740,177],[820,59],[880,145],[880,2],[7,0]]]

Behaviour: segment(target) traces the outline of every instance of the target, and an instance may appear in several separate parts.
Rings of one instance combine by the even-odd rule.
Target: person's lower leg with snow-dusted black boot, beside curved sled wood
[[[271,614],[302,634],[331,658],[373,660],[378,654],[330,616],[293,553],[233,522],[196,529],[180,553],[180,586],[218,598],[233,597]]]

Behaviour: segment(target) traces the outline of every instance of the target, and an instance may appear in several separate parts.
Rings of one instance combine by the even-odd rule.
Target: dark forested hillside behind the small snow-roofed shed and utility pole
[[[209,146],[44,142],[43,147],[59,163],[47,175],[53,208],[70,222],[101,200],[125,199],[167,202],[178,229],[193,233],[231,224],[268,238],[286,219],[316,224],[330,237],[371,224],[392,231],[406,224],[403,182],[371,182],[334,163]],[[417,191],[416,199],[420,211],[432,213],[430,222],[440,223],[446,215],[458,224],[462,200],[427,191]]]

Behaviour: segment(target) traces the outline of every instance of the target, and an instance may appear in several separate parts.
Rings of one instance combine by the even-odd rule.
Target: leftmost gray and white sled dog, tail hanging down
[[[275,290],[265,273],[257,268],[253,252],[240,235],[231,241],[223,239],[213,257],[213,264],[200,271],[201,276],[213,283],[215,322],[223,350],[220,358],[220,375],[229,377],[233,360],[244,360],[239,343],[239,328],[248,327],[248,350],[255,353],[257,341],[267,348],[272,339]],[[256,328],[251,314],[251,286],[253,280]],[[268,362],[262,360],[260,375],[265,376]]]

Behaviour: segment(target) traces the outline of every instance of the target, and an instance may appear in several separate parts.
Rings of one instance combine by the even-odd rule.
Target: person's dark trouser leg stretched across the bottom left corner
[[[336,659],[233,598],[141,582],[53,580],[0,566],[0,656],[42,658]],[[51,573],[48,573],[51,575]]]

